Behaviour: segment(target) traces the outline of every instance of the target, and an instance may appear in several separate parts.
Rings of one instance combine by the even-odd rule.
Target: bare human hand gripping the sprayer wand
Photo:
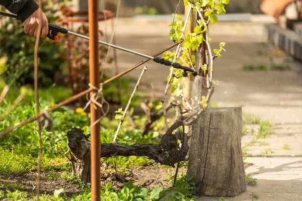
[[[41,9],[38,9],[35,11],[31,16],[29,16],[24,22],[24,33],[29,34],[29,35],[34,35],[37,37],[38,34],[38,25],[41,23],[42,28],[41,28],[41,34],[40,37],[44,38],[48,34],[48,20],[46,18],[46,15],[41,12],[42,14],[42,21],[40,22],[39,19],[39,12],[41,12]]]

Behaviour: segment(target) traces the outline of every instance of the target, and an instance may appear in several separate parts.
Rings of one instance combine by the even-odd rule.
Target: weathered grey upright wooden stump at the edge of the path
[[[188,175],[198,194],[233,197],[246,190],[242,109],[210,108],[193,125]]]

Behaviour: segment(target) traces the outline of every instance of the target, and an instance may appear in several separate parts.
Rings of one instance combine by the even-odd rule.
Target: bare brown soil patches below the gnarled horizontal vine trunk
[[[111,182],[115,190],[121,189],[124,183],[131,181],[133,184],[147,189],[152,189],[160,185],[160,182],[168,184],[165,179],[167,176],[172,176],[175,169],[168,171],[168,168],[159,168],[154,166],[149,167],[127,167],[125,170],[115,170],[114,168],[101,168],[101,183],[106,185]],[[55,172],[58,174],[55,179],[48,179],[47,175],[53,171],[41,172],[40,192],[41,194],[53,195],[54,190],[64,188],[66,196],[72,196],[81,192],[81,186],[78,184],[69,183],[62,178],[62,174],[66,172]],[[36,172],[22,173],[22,174],[3,174],[0,176],[0,190],[7,193],[7,189],[26,191],[29,193],[36,193],[37,181]]]

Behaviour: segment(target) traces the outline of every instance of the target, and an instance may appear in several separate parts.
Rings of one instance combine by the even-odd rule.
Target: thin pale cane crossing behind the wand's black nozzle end
[[[190,6],[190,7],[189,7],[188,14],[187,14],[187,17],[186,17],[186,21],[185,21],[184,27],[183,27],[183,29],[182,29],[181,38],[184,37],[184,33],[185,33],[185,30],[186,30],[188,21],[189,21],[189,19],[190,19],[191,11],[192,11],[192,7]],[[176,49],[176,51],[175,51],[175,56],[174,56],[174,59],[173,59],[173,63],[175,63],[176,60],[177,60],[177,58],[179,57],[180,50],[181,50],[180,46],[181,46],[181,43],[179,43],[179,44],[177,45],[177,49]],[[168,82],[167,82],[166,89],[165,89],[165,95],[164,95],[164,98],[162,99],[163,110],[164,110],[164,119],[165,119],[165,124],[166,124],[166,128],[167,128],[167,129],[169,129],[169,123],[168,123],[168,118],[167,118],[167,113],[166,113],[166,111],[165,111],[165,107],[166,107],[167,93],[168,93],[168,90],[169,90],[169,88],[170,88],[171,80],[172,80],[172,77],[173,77],[173,72],[174,72],[174,68],[171,67],[169,80],[168,80]]]

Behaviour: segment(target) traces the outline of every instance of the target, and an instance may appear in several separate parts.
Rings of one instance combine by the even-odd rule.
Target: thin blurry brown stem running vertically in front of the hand
[[[34,88],[35,88],[35,102],[36,102],[36,114],[39,114],[39,96],[38,96],[38,48],[40,34],[42,30],[42,0],[39,0],[39,22],[38,31],[36,36],[36,44],[34,51]],[[37,200],[39,200],[40,193],[40,171],[41,171],[41,160],[42,160],[42,136],[40,122],[37,121],[38,134],[39,134],[39,155],[38,155],[38,168],[37,168]]]

